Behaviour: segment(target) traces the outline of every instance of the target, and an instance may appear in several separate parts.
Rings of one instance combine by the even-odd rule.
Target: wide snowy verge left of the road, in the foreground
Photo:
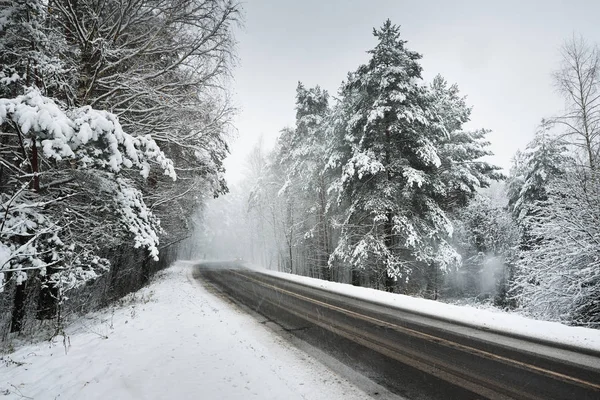
[[[0,359],[6,399],[364,399],[356,386],[209,293],[183,262],[128,304]],[[133,300],[132,300],[133,298]]]

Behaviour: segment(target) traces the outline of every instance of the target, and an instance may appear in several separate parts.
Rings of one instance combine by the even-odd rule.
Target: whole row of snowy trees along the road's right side
[[[295,127],[273,151],[257,146],[247,179],[209,208],[205,248],[597,326],[597,50],[565,46],[556,82],[570,109],[542,122],[506,177],[484,161],[488,131],[465,129],[471,108],[457,86],[423,81],[398,26],[374,35],[335,98],[298,84]]]

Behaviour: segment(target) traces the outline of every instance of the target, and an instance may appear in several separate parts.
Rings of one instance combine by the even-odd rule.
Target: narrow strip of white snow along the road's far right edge
[[[388,293],[344,283],[328,282],[306,276],[270,271],[252,265],[248,265],[248,267],[290,281],[378,304],[389,305],[402,310],[417,312],[422,315],[456,321],[476,328],[484,328],[486,330],[524,336],[581,349],[600,351],[600,330],[598,329],[567,326],[558,322],[540,321],[501,310],[484,310],[470,306],[446,304],[439,301]]]

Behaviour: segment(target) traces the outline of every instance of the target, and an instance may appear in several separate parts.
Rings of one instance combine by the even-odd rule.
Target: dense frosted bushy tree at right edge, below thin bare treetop
[[[574,168],[547,186],[528,220],[536,245],[520,254],[516,300],[544,319],[600,326],[600,184]]]

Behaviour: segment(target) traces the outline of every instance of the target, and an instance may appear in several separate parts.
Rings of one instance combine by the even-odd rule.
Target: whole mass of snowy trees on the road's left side
[[[3,336],[25,303],[56,318],[115,263],[147,279],[204,198],[227,192],[239,13],[230,0],[0,0]]]

